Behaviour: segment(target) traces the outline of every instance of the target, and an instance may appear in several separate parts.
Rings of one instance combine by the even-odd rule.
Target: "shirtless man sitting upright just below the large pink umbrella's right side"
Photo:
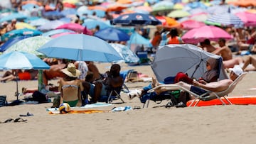
[[[218,48],[217,50],[214,50],[212,53],[223,57],[223,61],[231,60],[232,51],[230,50],[230,48],[228,48],[228,46],[225,45],[225,39],[220,38],[220,40],[218,41],[218,44],[220,45],[220,48]]]

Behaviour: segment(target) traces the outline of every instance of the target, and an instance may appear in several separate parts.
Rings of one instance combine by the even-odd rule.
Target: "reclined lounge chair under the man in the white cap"
[[[223,97],[226,101],[228,101],[229,104],[232,104],[225,96],[228,96],[228,94],[230,92],[232,92],[233,89],[235,89],[235,86],[238,84],[238,82],[240,82],[242,80],[243,77],[245,77],[246,74],[247,74],[247,72],[240,74],[240,76],[237,79],[235,79],[235,81],[232,84],[230,84],[228,89],[225,89],[222,92],[211,92],[211,91],[208,91],[205,89],[207,91],[205,94],[198,95],[198,94],[191,92],[189,89],[185,89],[184,87],[181,87],[177,84],[162,84],[157,87],[154,87],[153,89],[149,89],[148,92],[154,92],[154,89],[158,89],[159,87],[166,87],[166,89],[169,89],[170,91],[182,89],[183,91],[186,91],[189,94],[196,97],[196,99],[194,99],[193,102],[191,102],[191,104],[189,106],[192,106],[196,102],[197,99],[198,99],[198,101],[196,102],[196,104],[194,106],[196,106],[199,101],[210,101],[212,99],[219,99],[222,102],[222,104],[225,105],[225,102],[222,99],[220,99],[220,97]]]

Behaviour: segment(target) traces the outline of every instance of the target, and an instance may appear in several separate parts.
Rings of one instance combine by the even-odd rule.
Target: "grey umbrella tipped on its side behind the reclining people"
[[[221,60],[219,55],[206,52],[196,45],[164,45],[156,51],[151,68],[159,82],[164,82],[166,77],[176,76],[178,72],[187,73],[189,77],[198,79],[206,72],[206,60],[209,57]],[[219,78],[228,78],[223,67]]]

